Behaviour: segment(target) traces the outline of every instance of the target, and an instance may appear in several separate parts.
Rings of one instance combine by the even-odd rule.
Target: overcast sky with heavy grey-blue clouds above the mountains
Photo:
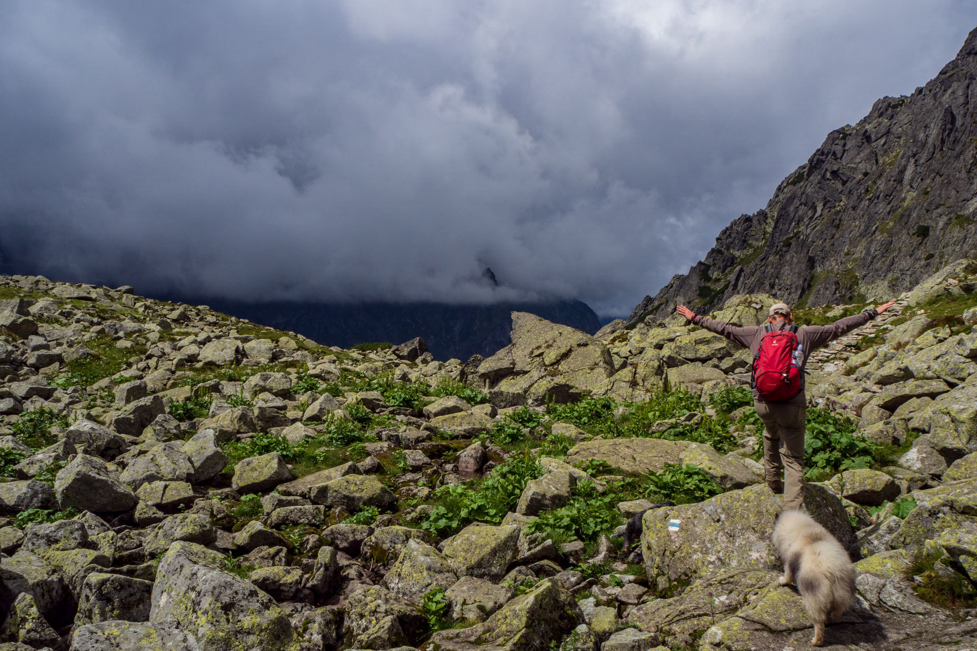
[[[626,314],[974,26],[950,0],[5,0],[2,264]]]

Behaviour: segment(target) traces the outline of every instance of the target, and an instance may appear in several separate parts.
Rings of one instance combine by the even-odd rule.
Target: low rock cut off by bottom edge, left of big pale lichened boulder
[[[173,623],[108,621],[87,624],[71,635],[69,651],[202,651],[191,635]],[[224,647],[233,649],[232,646]]]

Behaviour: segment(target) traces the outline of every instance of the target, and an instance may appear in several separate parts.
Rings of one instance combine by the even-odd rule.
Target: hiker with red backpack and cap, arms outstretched
[[[808,356],[815,348],[865,325],[892,305],[895,301],[870,307],[826,326],[800,327],[793,325],[790,308],[783,303],[771,305],[768,325],[746,327],[710,319],[685,305],[676,308],[696,325],[748,347],[753,354],[751,385],[753,407],[764,426],[763,468],[770,489],[784,493],[784,509],[800,509],[803,504],[807,418],[804,367]]]

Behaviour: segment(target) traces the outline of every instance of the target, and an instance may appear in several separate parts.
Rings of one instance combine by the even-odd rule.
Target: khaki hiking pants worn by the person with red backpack
[[[763,421],[763,469],[767,484],[780,484],[784,473],[784,509],[800,509],[804,504],[804,424],[803,405],[754,402],[756,415]],[[785,470],[786,468],[786,470]]]

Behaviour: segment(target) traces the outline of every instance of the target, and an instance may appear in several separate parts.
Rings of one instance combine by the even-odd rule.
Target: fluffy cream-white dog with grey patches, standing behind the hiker
[[[777,516],[773,542],[784,560],[780,584],[797,585],[814,622],[811,644],[821,646],[828,614],[837,619],[855,601],[855,566],[828,529],[799,510]]]

